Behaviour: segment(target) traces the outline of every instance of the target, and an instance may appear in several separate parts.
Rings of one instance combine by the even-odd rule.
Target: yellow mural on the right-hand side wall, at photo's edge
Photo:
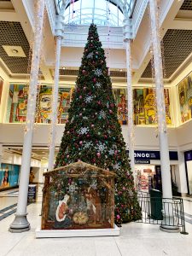
[[[177,84],[181,123],[192,119],[192,73]]]

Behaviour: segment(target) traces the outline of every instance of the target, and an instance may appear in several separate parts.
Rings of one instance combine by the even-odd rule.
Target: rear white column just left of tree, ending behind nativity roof
[[[56,20],[56,51],[55,51],[55,77],[54,88],[52,94],[52,115],[51,115],[51,127],[50,127],[50,142],[49,142],[49,165],[48,170],[54,168],[55,157],[55,137],[56,137],[56,124],[57,124],[57,112],[58,112],[58,92],[59,92],[59,75],[60,75],[60,57],[61,57],[61,40],[63,38],[63,16],[58,15]]]

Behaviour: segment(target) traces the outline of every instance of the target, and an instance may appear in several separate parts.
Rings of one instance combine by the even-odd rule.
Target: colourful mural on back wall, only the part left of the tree
[[[24,84],[10,84],[8,110],[6,122],[22,123],[26,121],[28,86]],[[68,108],[72,96],[71,88],[60,88],[58,96],[58,123],[64,124],[67,120]],[[36,108],[36,122],[49,124],[52,108],[52,87],[40,85]]]

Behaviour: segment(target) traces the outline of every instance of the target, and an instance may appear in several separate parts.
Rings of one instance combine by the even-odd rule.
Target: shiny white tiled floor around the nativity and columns
[[[186,201],[189,214],[191,205],[192,202]],[[14,215],[0,221],[0,256],[192,256],[192,224],[186,224],[188,236],[162,232],[158,225],[131,223],[123,225],[119,237],[36,239],[41,202],[28,206],[27,210],[32,227],[28,232],[9,233]]]

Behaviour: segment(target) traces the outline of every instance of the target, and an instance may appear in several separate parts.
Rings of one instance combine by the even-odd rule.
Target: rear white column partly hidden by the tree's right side
[[[126,12],[126,10],[124,9]],[[131,160],[131,171],[135,174],[135,159],[134,159],[134,122],[133,122],[133,92],[132,92],[132,67],[131,67],[131,20],[126,17],[124,19],[124,42],[126,52],[126,71],[127,71],[127,109],[128,109],[128,147],[129,157]]]

